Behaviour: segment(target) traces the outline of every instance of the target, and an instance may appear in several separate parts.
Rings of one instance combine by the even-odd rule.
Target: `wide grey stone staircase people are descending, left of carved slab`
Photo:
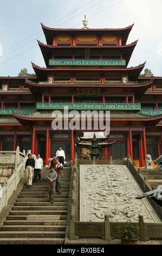
[[[43,168],[42,181],[23,186],[1,227],[1,245],[64,244],[71,168],[63,168],[62,193],[55,193],[53,204],[48,202],[48,171]]]

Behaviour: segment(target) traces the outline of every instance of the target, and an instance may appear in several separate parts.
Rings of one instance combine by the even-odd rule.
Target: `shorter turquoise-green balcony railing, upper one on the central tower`
[[[126,65],[125,59],[49,59],[49,65]]]

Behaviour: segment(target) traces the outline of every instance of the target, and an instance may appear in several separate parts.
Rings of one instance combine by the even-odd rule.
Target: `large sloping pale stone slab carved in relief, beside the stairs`
[[[126,166],[80,165],[80,221],[161,223],[147,198],[137,200],[142,191]]]

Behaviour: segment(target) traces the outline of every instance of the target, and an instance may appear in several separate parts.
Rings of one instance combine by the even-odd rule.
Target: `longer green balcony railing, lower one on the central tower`
[[[102,102],[37,102],[37,109],[123,109],[140,110],[140,103],[102,103]]]

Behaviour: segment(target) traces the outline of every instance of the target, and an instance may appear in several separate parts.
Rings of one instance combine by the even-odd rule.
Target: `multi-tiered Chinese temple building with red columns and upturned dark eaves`
[[[105,160],[131,155],[137,167],[161,155],[162,77],[145,63],[129,67],[137,41],[127,44],[133,25],[118,29],[56,29],[41,24],[46,44],[38,41],[46,68],[34,74],[0,77],[0,150],[31,149],[44,164],[59,146],[66,159],[88,154],[75,143],[82,129],[54,130],[53,111],[110,111],[111,150]],[[142,74],[144,70],[144,74]],[[3,74],[1,74],[3,75]],[[68,120],[70,121],[70,119]],[[88,130],[87,130],[88,131]],[[92,130],[96,131],[95,127]]]

